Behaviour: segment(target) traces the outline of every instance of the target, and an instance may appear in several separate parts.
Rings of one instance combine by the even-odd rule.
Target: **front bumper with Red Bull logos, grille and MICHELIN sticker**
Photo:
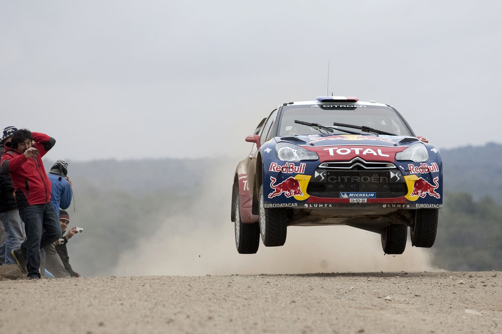
[[[441,160],[393,161],[395,169],[382,171],[327,171],[324,179],[319,176],[322,168],[318,160],[295,162],[296,169],[288,162],[290,168],[280,172],[268,168],[281,162],[286,164],[264,161],[266,208],[420,209],[441,208],[443,204]],[[343,191],[343,187],[350,189]]]

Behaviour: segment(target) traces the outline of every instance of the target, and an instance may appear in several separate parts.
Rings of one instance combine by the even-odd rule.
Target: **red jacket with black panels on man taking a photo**
[[[32,132],[32,136],[36,141],[33,147],[38,149],[38,155],[27,159],[24,153],[6,146],[0,160],[2,171],[10,173],[19,209],[49,203],[51,200],[51,182],[45,173],[42,156],[54,146],[56,140],[38,132]]]

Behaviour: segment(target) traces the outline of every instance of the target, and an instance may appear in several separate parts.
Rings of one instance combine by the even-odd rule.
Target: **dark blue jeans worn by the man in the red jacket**
[[[25,222],[26,240],[21,244],[21,252],[26,252],[28,276],[40,277],[40,248],[61,237],[61,224],[56,209],[51,203],[30,205],[19,210]]]

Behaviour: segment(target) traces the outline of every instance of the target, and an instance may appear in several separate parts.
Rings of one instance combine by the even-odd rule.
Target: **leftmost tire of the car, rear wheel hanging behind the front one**
[[[239,194],[236,195],[235,203],[235,247],[239,254],[255,254],[260,246],[260,224],[244,224],[240,219]]]

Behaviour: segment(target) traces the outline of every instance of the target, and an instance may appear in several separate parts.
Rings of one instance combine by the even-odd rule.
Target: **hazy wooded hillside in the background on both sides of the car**
[[[502,230],[495,226],[502,204],[502,145],[441,153],[449,195],[445,194],[441,210],[434,263],[449,270],[502,269],[496,261],[502,245],[487,242],[502,239]],[[69,245],[75,270],[85,276],[112,275],[124,252],[148,242],[168,220],[169,235],[158,236],[166,241],[201,224],[232,228],[227,213],[237,161],[227,157],[69,161],[76,209],[73,204],[68,209],[70,226],[84,228]],[[464,194],[456,194],[460,192]],[[201,212],[207,212],[206,219],[201,220]]]

